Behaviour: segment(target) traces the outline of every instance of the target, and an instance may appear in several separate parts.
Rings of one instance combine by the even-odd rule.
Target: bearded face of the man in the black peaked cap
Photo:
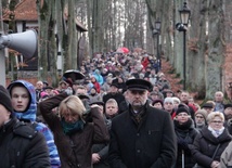
[[[128,96],[127,101],[129,104],[131,104],[133,107],[140,108],[146,103],[147,100],[147,90],[128,90]]]

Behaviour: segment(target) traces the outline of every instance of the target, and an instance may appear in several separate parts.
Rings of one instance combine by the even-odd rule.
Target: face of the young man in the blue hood
[[[29,103],[29,93],[24,87],[13,87],[11,102],[16,112],[24,112]]]

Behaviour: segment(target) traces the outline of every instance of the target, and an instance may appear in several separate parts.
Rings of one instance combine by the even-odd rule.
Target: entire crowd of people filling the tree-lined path
[[[0,87],[0,167],[229,168],[232,104],[171,90],[147,53],[95,54],[85,78]]]

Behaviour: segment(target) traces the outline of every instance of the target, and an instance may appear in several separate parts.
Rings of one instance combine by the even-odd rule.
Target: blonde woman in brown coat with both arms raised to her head
[[[59,115],[52,108],[59,106]],[[108,141],[108,133],[98,105],[92,105],[85,120],[86,108],[76,95],[61,93],[39,103],[40,112],[54,133],[62,167],[91,168],[91,147]]]

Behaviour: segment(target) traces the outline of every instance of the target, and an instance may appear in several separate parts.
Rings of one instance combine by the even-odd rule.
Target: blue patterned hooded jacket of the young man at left
[[[16,112],[14,109],[14,115],[22,121],[30,122],[31,125],[35,125],[35,129],[38,132],[41,132],[47,141],[47,145],[49,148],[49,155],[50,155],[50,161],[51,167],[60,167],[61,161],[57,153],[56,145],[54,144],[54,138],[51,132],[51,130],[42,122],[36,122],[36,113],[37,113],[37,101],[36,101],[36,90],[35,87],[25,80],[15,80],[12,83],[9,85],[8,90],[11,94],[13,87],[15,86],[23,86],[27,89],[29,93],[29,103],[27,105],[27,108],[25,112]]]

